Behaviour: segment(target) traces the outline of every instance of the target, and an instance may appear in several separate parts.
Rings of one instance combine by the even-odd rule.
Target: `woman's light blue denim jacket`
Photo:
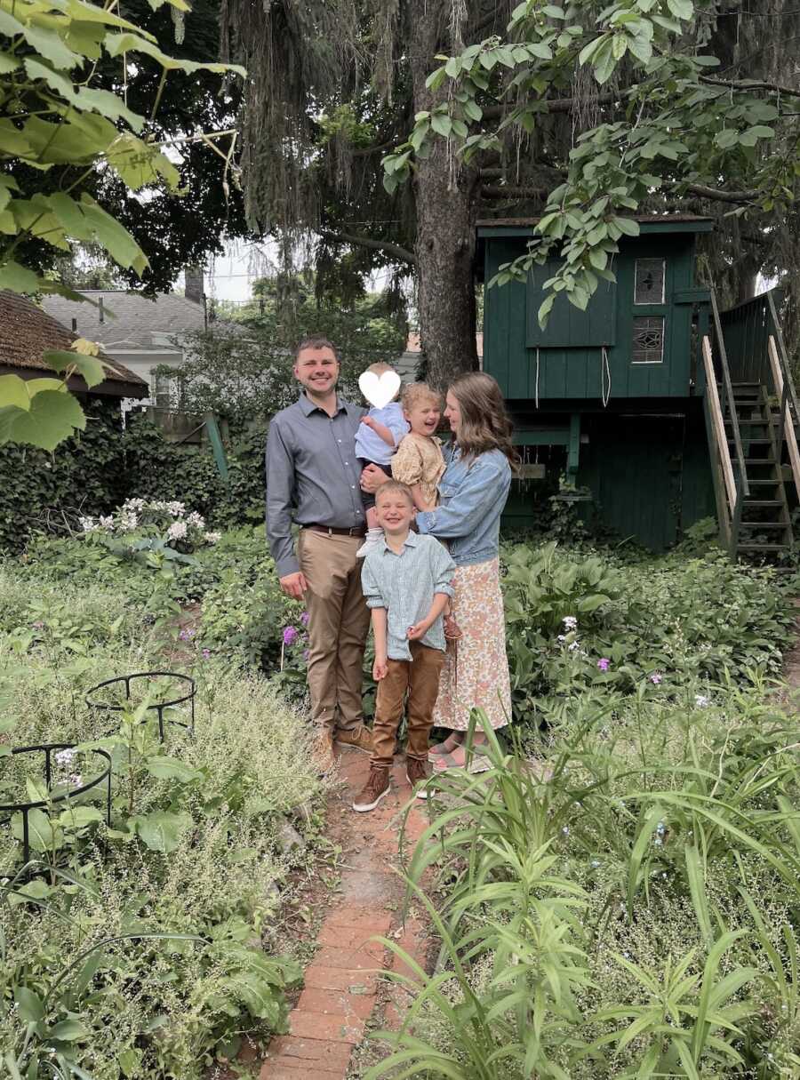
[[[417,528],[447,540],[457,566],[497,558],[500,515],[511,487],[509,459],[502,450],[487,450],[463,461],[458,447],[445,447],[444,455],[440,503],[417,514]]]

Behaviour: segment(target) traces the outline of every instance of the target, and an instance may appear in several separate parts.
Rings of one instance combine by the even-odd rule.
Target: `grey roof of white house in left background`
[[[174,293],[153,299],[140,293],[112,288],[82,288],[79,292],[91,302],[46,296],[42,301],[44,310],[65,326],[71,326],[74,319],[76,330],[81,337],[99,341],[109,350],[123,345],[162,348],[164,335],[205,328],[203,305]]]

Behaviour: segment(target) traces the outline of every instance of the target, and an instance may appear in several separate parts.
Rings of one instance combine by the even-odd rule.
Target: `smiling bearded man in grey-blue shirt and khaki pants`
[[[337,396],[339,356],[326,338],[300,342],[294,374],[303,392],[273,418],[267,440],[267,537],[281,589],[306,599],[311,717],[320,768],[327,771],[335,739],[372,750],[362,711],[369,608],[355,554],[366,535],[355,456],[364,409]],[[297,555],[293,508],[300,526]]]

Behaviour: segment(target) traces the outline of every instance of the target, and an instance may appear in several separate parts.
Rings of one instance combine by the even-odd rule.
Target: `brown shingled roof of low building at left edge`
[[[14,372],[23,378],[33,378],[40,372],[53,374],[42,359],[51,349],[71,350],[76,338],[86,334],[70,334],[57,320],[42,311],[32,300],[18,293],[0,289],[0,374]],[[114,362],[114,375],[92,388],[92,393],[118,397],[146,397],[147,383],[126,367]],[[80,376],[69,380],[70,389],[85,390]]]

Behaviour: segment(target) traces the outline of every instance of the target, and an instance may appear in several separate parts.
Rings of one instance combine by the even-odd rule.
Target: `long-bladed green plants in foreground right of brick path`
[[[439,962],[387,942],[413,1003],[367,1080],[794,1075],[800,774],[762,697],[613,719],[575,697],[534,758],[476,713],[490,768],[429,781],[444,804],[408,865]]]

